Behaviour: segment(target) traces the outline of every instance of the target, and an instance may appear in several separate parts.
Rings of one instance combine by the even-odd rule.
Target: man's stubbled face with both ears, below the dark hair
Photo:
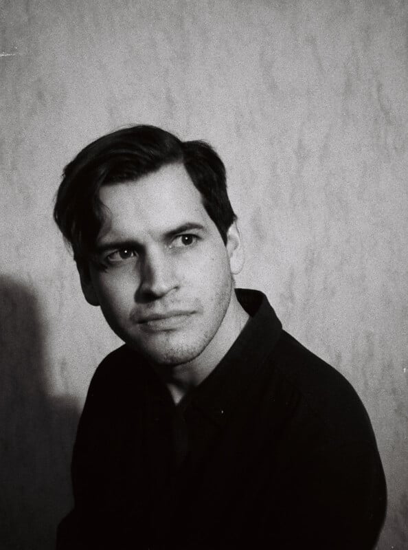
[[[181,164],[103,186],[100,199],[109,209],[96,243],[104,267],[81,273],[87,300],[153,362],[194,360],[228,322],[241,267],[235,224],[225,245]]]

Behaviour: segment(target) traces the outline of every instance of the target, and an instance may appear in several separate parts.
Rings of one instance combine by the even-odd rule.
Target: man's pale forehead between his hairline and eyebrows
[[[99,196],[108,208],[100,238],[161,233],[188,222],[213,223],[182,164],[163,166],[137,181],[107,184]]]

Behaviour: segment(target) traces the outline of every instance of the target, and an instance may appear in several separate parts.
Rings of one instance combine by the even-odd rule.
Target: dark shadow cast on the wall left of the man
[[[0,276],[0,548],[51,550],[71,506],[79,411],[47,394],[33,290]]]

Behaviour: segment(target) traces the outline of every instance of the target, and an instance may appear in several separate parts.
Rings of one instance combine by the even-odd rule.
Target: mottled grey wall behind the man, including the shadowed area
[[[48,550],[95,366],[117,345],[52,222],[63,166],[129,122],[209,140],[245,236],[238,284],[354,384],[408,547],[402,0],[1,1],[0,547]]]

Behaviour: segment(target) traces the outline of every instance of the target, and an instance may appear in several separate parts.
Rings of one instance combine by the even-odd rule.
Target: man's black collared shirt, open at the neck
[[[178,406],[126,345],[100,364],[58,550],[374,546],[385,479],[363,404],[263,294],[237,295],[247,325]]]

